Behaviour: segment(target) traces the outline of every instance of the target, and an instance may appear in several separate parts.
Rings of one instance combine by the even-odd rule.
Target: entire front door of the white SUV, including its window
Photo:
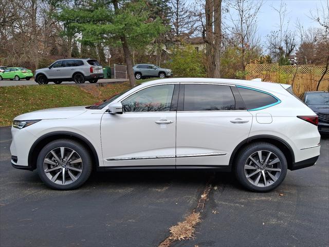
[[[178,85],[147,86],[121,101],[123,114],[101,121],[105,166],[175,167]]]

